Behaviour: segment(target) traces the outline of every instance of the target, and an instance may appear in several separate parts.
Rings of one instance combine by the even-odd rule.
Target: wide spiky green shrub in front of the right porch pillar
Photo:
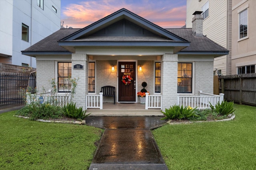
[[[166,117],[163,117],[161,120],[164,119],[188,119],[189,117],[197,117],[197,115],[195,114],[195,110],[197,107],[195,108],[191,108],[191,107],[184,107],[183,106],[171,106],[170,109],[165,109],[164,111],[161,111]]]

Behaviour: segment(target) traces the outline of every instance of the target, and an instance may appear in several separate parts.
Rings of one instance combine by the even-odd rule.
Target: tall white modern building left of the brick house
[[[60,29],[60,0],[0,0],[0,63],[36,68],[21,51]]]

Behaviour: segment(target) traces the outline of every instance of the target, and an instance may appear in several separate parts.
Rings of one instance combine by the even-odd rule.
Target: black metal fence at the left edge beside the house
[[[0,73],[0,106],[24,104],[28,87],[36,87],[35,74]]]

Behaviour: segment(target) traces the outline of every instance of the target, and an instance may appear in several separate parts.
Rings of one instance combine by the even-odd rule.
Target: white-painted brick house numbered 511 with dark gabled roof
[[[202,36],[200,12],[193,20],[192,29],[163,29],[121,9],[82,29],[60,29],[22,54],[36,57],[39,92],[42,86],[51,89],[52,78],[59,93],[68,92],[68,77],[79,78],[73,101],[86,108],[86,95],[98,95],[107,85],[116,87],[117,102],[137,103],[146,82],[150,95],[162,96],[165,109],[177,104],[178,95],[212,94],[214,58],[228,54]],[[124,75],[131,84],[122,81]]]

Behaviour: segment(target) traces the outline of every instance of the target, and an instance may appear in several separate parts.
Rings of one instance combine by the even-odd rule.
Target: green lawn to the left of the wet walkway
[[[0,114],[0,169],[88,169],[102,130]]]

